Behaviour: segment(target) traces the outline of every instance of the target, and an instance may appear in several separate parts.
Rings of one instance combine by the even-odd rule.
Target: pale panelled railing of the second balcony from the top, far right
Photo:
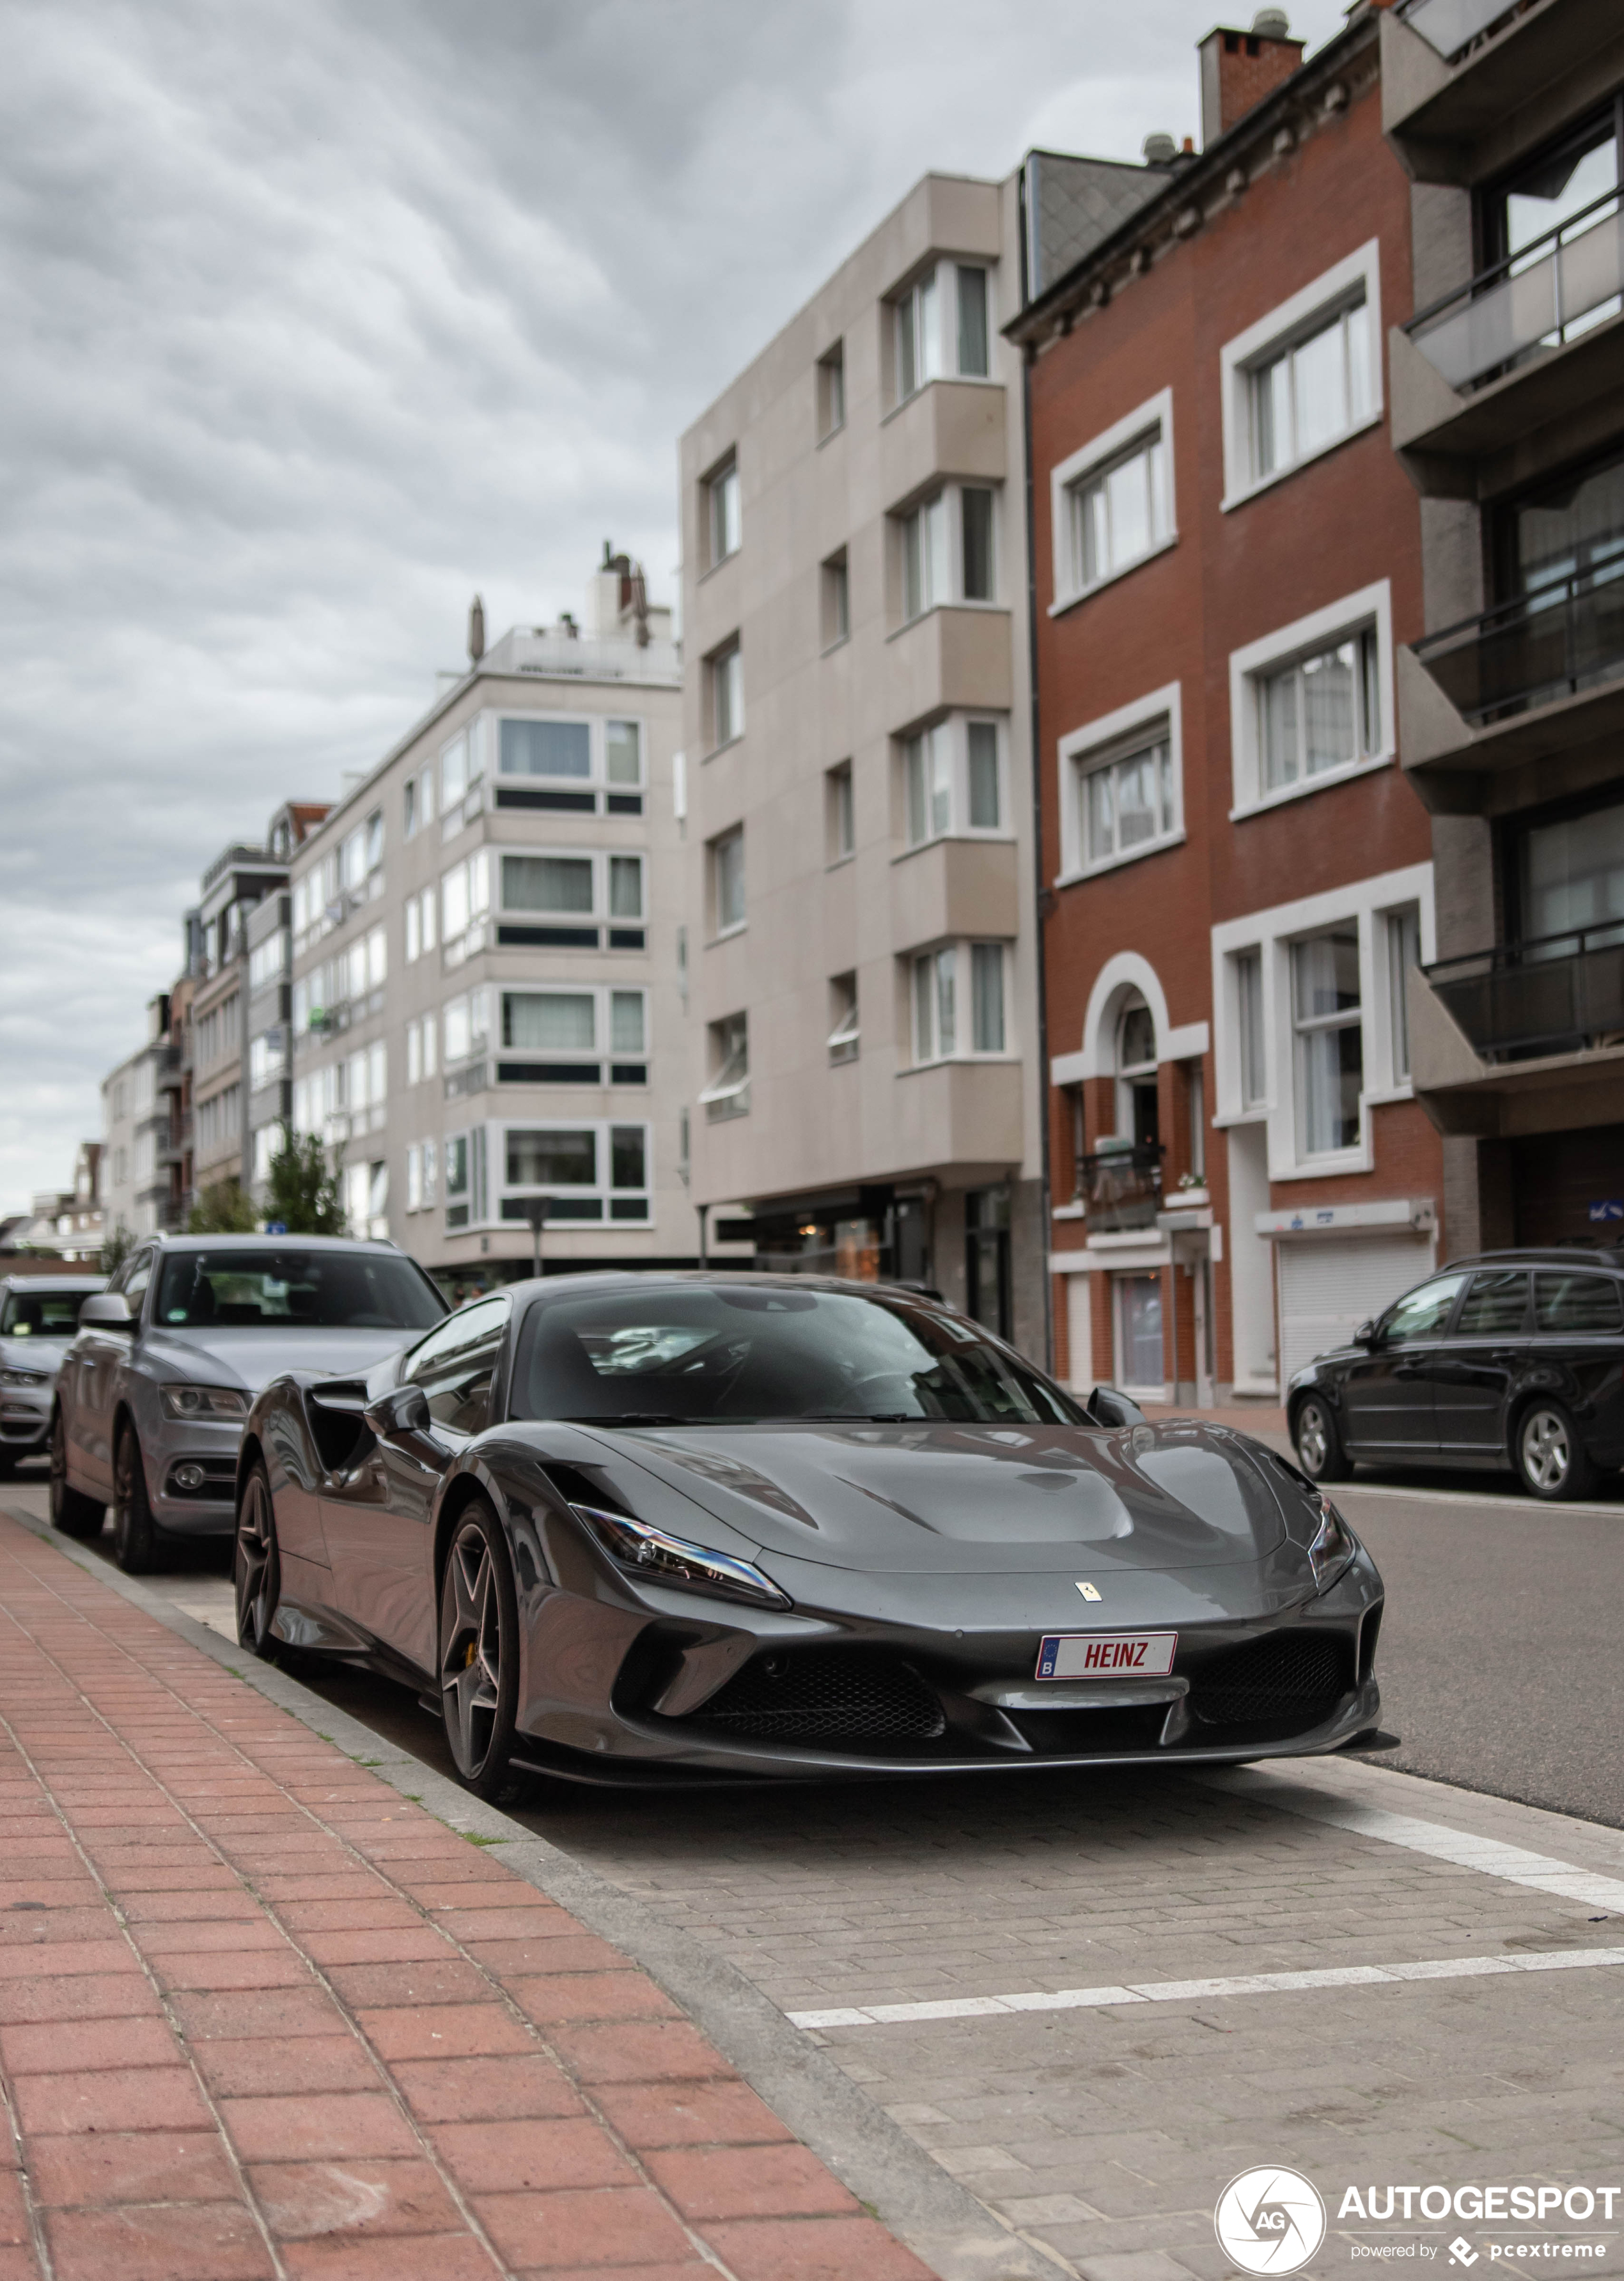
[[[1451,388],[1471,390],[1617,315],[1619,294],[1624,214],[1610,189],[1508,260],[1416,310],[1405,333]]]

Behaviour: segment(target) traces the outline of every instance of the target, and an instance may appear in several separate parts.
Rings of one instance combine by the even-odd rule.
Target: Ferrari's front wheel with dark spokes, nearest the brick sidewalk
[[[456,1779],[500,1807],[525,1788],[509,1765],[518,1718],[518,1594],[502,1524],[463,1505],[440,1576],[440,1718]]]

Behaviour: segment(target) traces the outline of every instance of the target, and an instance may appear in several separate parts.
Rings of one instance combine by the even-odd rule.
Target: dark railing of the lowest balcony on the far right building
[[[1423,967],[1483,1061],[1624,1045],[1624,919]]]

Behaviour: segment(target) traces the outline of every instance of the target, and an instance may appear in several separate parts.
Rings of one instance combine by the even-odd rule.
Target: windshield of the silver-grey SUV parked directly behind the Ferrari
[[[221,1250],[164,1259],[153,1321],[164,1330],[427,1330],[445,1300],[388,1252]]]

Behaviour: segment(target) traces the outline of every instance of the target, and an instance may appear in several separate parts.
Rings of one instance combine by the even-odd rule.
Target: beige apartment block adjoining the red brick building
[[[693,1198],[1042,1355],[1020,269],[926,176],[682,438]]]

